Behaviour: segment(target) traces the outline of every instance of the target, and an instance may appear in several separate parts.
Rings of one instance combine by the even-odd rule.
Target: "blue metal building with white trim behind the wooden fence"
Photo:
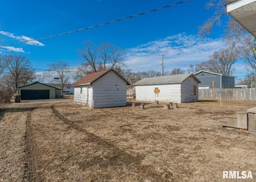
[[[198,83],[198,89],[235,88],[235,76],[204,70],[198,71],[194,75],[201,81]]]

